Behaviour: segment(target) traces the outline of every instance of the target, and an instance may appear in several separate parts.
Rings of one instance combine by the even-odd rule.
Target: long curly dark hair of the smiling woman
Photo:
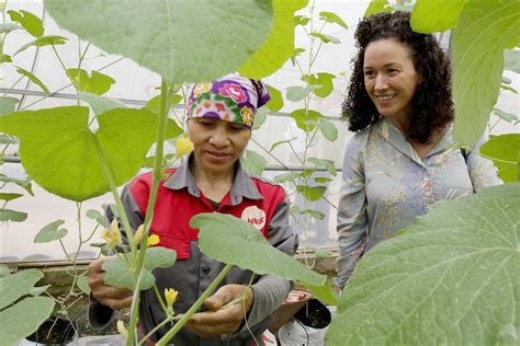
[[[348,120],[351,131],[366,129],[381,118],[364,88],[363,60],[371,42],[387,38],[408,46],[421,79],[410,101],[412,112],[408,115],[405,136],[425,143],[432,130],[453,120],[450,58],[433,35],[411,30],[408,12],[377,13],[365,18],[359,23],[354,37],[359,53],[348,95],[341,105],[342,117]]]

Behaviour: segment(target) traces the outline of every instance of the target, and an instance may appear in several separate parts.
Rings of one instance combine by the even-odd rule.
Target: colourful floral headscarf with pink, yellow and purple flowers
[[[186,105],[188,118],[221,119],[251,129],[257,109],[270,99],[262,81],[230,73],[211,83],[193,85]]]

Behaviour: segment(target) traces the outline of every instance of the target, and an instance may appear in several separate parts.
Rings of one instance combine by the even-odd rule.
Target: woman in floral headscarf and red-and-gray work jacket
[[[191,91],[186,109],[193,152],[179,168],[169,170],[160,183],[150,227],[150,234],[159,237],[157,246],[177,252],[173,267],[154,272],[160,292],[168,288],[179,292],[176,313],[188,311],[224,267],[199,250],[199,230],[189,226],[194,215],[229,214],[250,222],[276,249],[292,255],[297,247],[283,188],[250,175],[239,161],[251,137],[257,108],[268,101],[262,82],[237,73],[195,84]],[[144,222],[151,180],[151,173],[139,175],[123,191],[122,199],[134,229]],[[104,284],[102,262],[95,261],[89,267],[89,316],[94,326],[106,324],[112,309],[128,307],[132,299],[127,291]],[[248,286],[251,278],[252,285]],[[252,277],[251,272],[235,267],[205,301],[206,311],[195,313],[171,342],[199,345],[205,338],[204,345],[251,345],[253,341],[262,345],[260,335],[290,290],[287,280],[271,275]],[[219,310],[242,295],[242,303]],[[154,290],[143,291],[143,332],[150,332],[165,318]],[[166,332],[167,328],[159,330],[154,339]]]

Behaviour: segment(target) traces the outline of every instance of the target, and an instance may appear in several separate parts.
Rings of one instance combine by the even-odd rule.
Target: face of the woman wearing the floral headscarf
[[[241,124],[192,118],[188,122],[188,135],[193,142],[196,165],[205,172],[222,174],[234,170],[251,131]]]

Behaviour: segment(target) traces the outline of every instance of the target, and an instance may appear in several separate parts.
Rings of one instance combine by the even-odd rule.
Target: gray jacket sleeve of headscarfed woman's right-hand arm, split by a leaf
[[[269,224],[268,241],[278,250],[292,256],[298,247],[297,234],[289,226],[289,199],[284,201],[274,211]],[[290,280],[282,279],[274,275],[263,275],[255,285],[255,301],[247,318],[247,324],[237,333],[249,333],[248,326],[256,325],[270,318],[273,312],[283,303],[293,284]]]

